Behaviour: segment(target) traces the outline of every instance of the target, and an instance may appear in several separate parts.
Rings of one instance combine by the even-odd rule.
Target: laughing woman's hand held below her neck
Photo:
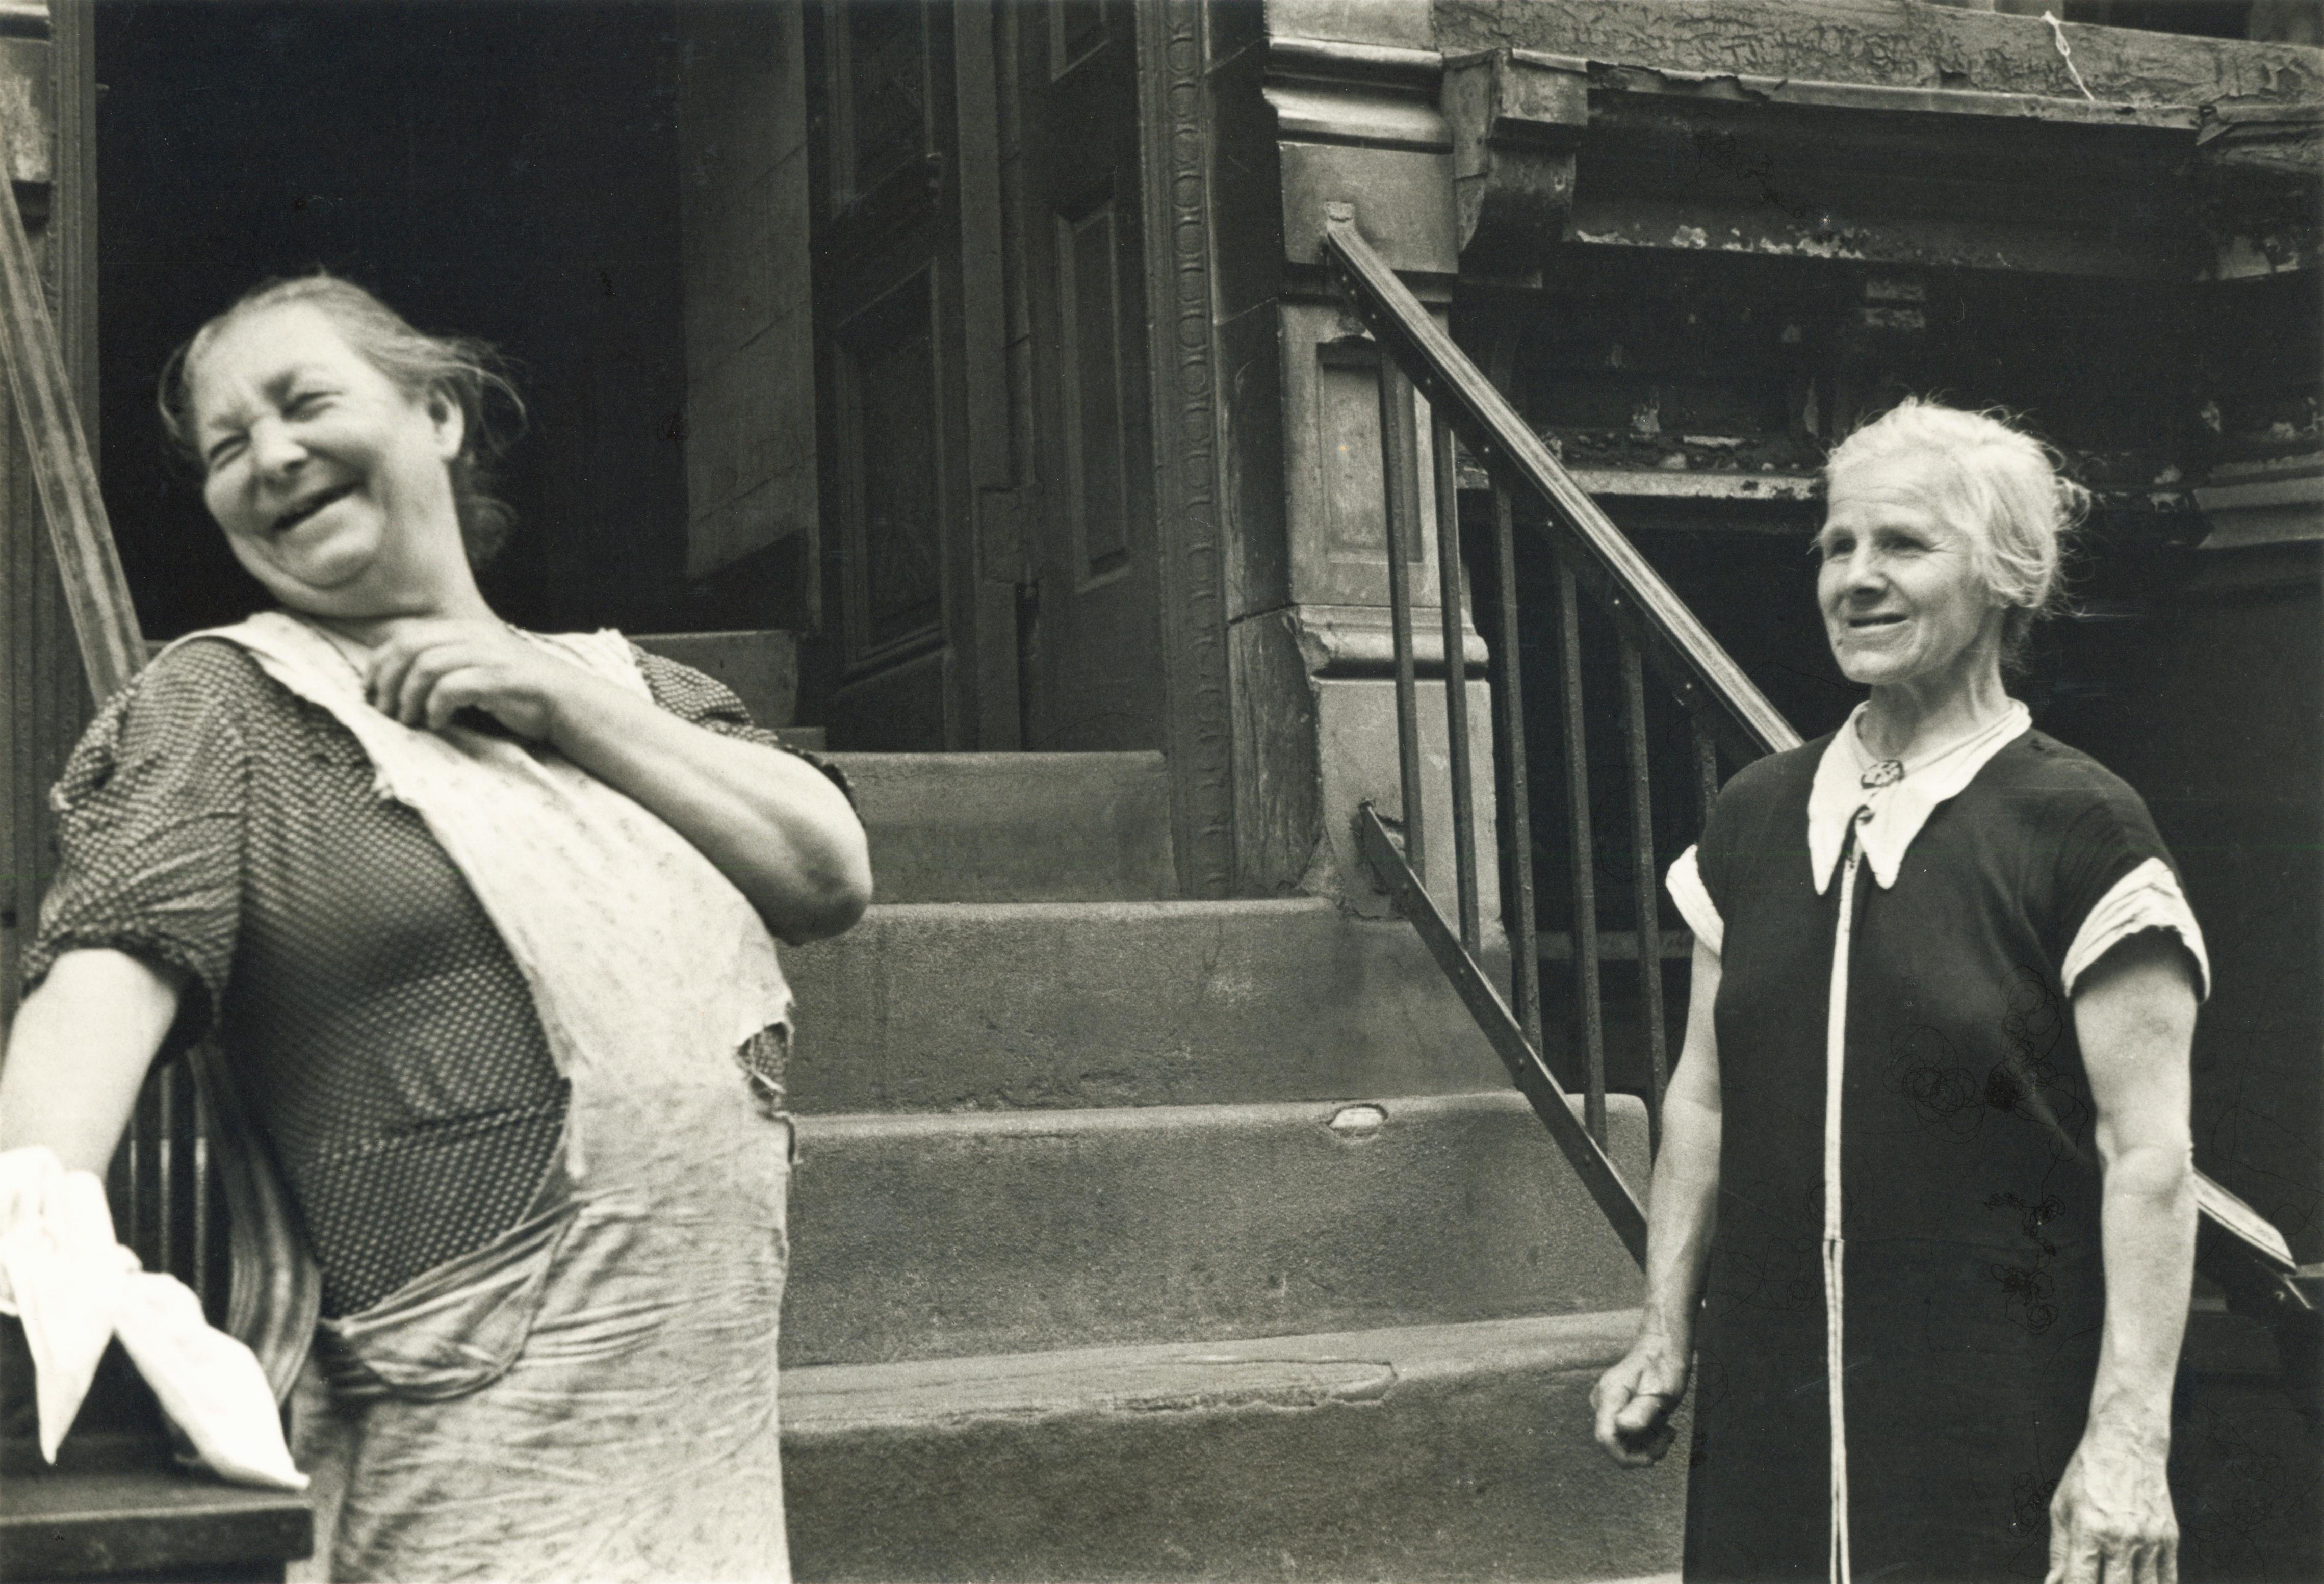
[[[365,697],[407,727],[442,732],[462,708],[481,708],[528,741],[548,739],[558,711],[595,685],[581,667],[525,643],[493,620],[402,620],[372,650]]]

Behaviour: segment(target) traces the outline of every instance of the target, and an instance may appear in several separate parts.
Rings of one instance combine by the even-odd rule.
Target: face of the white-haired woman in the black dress
[[[1841,674],[1887,687],[1943,678],[1992,639],[2003,606],[1975,543],[1938,509],[1927,462],[1878,460],[1831,483],[1815,599]]]

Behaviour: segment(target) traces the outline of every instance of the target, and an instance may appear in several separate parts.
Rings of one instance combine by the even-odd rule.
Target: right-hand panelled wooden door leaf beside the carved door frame
[[[1160,748],[1136,14],[1129,0],[1009,12],[1037,451],[1016,634],[1023,746]]]

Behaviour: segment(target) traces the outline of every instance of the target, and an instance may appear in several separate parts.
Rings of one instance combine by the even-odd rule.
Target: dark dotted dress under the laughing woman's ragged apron
[[[632,657],[669,713],[781,748],[720,683]],[[56,785],[63,866],[26,962],[28,987],[74,948],[186,975],[172,1045],[221,1036],[328,1317],[509,1229],[565,1126],[509,948],[421,815],[374,780],[346,727],[246,650],[165,653]]]

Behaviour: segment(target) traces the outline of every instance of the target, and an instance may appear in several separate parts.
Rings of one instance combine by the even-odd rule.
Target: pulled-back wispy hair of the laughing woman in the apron
[[[483,567],[509,537],[516,513],[493,490],[500,458],[525,432],[525,399],[509,381],[500,353],[474,337],[423,334],[379,297],[328,269],[286,281],[263,281],[230,309],[193,332],[170,353],[160,369],[160,423],[172,446],[200,467],[193,432],[193,376],[202,355],[235,323],[267,309],[311,307],[346,339],[365,362],[388,376],[404,397],[423,402],[442,397],[458,404],[462,418],[460,455],[451,474],[453,511],[460,518],[460,543],[472,567]]]

